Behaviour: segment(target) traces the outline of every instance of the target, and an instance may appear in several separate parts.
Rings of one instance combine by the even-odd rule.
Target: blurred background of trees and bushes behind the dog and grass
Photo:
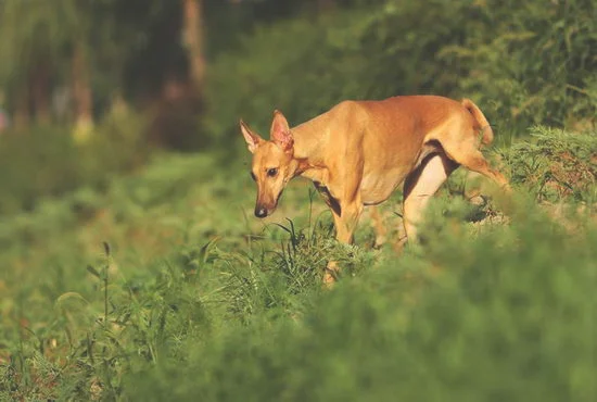
[[[238,152],[239,117],[265,129],[275,108],[297,124],[437,93],[474,99],[506,142],[586,129],[596,20],[593,0],[3,1],[0,214],[160,149]]]

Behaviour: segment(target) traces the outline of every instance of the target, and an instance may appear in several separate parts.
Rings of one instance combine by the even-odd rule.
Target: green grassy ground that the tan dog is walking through
[[[535,134],[494,154],[507,218],[458,172],[399,255],[399,194],[389,244],[364,219],[342,246],[305,181],[264,223],[246,166],[207,154],[5,217],[0,398],[595,400],[595,134]]]

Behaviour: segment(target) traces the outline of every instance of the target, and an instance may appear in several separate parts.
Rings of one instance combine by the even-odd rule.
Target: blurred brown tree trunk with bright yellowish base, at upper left
[[[93,126],[93,99],[89,81],[89,63],[82,43],[73,53],[73,100],[75,102],[75,133],[88,134]]]

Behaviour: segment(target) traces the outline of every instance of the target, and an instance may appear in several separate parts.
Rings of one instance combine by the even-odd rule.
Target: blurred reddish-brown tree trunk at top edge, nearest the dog
[[[190,64],[190,79],[198,93],[203,89],[205,59],[203,55],[203,0],[182,0],[183,35]]]

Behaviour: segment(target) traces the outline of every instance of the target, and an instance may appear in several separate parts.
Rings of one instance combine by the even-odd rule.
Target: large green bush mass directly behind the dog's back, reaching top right
[[[213,63],[204,124],[227,141],[239,117],[266,134],[276,108],[298,124],[343,99],[433,92],[474,99],[498,139],[590,127],[596,12],[589,0],[389,0],[278,22]]]

